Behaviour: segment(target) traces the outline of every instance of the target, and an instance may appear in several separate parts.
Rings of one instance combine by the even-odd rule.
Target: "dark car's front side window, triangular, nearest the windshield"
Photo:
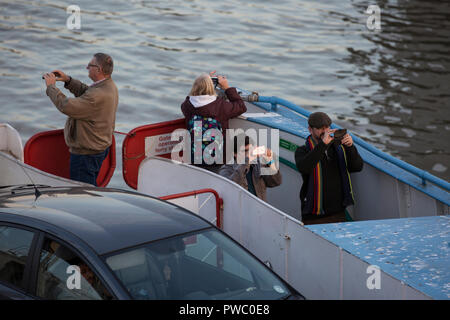
[[[52,300],[111,300],[100,279],[72,250],[45,239],[40,253],[38,297]]]

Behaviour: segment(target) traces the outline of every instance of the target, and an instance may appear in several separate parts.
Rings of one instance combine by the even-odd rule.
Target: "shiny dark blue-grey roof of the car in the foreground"
[[[0,196],[0,217],[1,212],[13,213],[52,224],[83,239],[100,255],[211,227],[180,207],[124,190],[61,187],[39,191],[37,199],[34,189]]]

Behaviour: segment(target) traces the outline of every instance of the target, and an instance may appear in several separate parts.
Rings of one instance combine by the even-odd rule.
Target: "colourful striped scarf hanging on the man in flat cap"
[[[309,136],[306,138],[305,145],[308,150],[311,151],[316,146],[316,143],[312,137]],[[337,154],[342,189],[344,193],[343,206],[347,207],[348,205],[355,203],[353,198],[352,182],[350,179],[350,174],[347,170],[347,155],[342,144],[339,146],[333,145],[332,147],[335,148]],[[323,210],[323,177],[322,165],[320,161],[317,162],[312,174],[309,175],[305,212],[310,212],[315,215],[323,215],[325,213]]]

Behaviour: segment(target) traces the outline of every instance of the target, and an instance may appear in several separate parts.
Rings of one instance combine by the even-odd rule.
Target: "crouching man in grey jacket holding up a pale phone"
[[[241,139],[240,139],[241,138]],[[239,141],[245,141],[244,145],[239,146]],[[281,184],[281,173],[275,167],[273,160],[273,153],[270,149],[266,149],[263,154],[254,154],[252,142],[248,136],[234,137],[234,163],[225,164],[220,168],[219,174],[233,180],[250,193],[254,194],[258,198],[267,201],[266,188],[277,187]],[[239,163],[238,152],[245,158],[244,163]],[[256,157],[260,157],[263,160],[263,164],[257,159],[256,163],[253,163]],[[267,169],[267,173],[262,174],[261,167],[264,166]]]

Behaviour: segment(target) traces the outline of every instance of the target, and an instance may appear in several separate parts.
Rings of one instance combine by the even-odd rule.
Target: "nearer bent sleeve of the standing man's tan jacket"
[[[95,99],[90,90],[84,90],[84,94],[76,98],[67,98],[55,85],[49,85],[46,93],[59,111],[73,119],[88,120],[93,114]]]

